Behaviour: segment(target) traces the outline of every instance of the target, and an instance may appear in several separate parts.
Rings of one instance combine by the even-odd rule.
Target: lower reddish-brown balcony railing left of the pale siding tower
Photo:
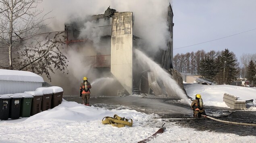
[[[85,61],[89,62],[92,67],[110,67],[111,55],[85,56]]]

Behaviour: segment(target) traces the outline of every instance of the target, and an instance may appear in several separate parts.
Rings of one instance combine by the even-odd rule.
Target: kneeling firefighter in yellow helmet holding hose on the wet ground
[[[200,94],[196,94],[196,100],[191,103],[191,109],[194,111],[193,116],[200,118],[201,115],[206,115],[204,111],[204,103]]]

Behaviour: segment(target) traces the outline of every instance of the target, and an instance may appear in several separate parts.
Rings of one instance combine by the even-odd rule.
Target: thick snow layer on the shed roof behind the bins
[[[21,70],[0,69],[0,80],[3,81],[27,81],[43,83],[44,79],[35,73]]]

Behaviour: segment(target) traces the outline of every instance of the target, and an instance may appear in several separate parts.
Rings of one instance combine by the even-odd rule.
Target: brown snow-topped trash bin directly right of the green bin
[[[42,92],[25,91],[24,93],[28,93],[28,94],[33,96],[32,103],[31,103],[31,113],[30,113],[30,115],[33,116],[37,113],[40,113],[41,112],[41,106],[42,106],[42,99],[43,99]]]

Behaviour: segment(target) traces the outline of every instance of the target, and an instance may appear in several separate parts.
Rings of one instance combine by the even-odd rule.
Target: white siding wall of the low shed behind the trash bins
[[[42,87],[42,83],[23,81],[0,81],[0,95],[24,93],[25,91],[35,91]]]

